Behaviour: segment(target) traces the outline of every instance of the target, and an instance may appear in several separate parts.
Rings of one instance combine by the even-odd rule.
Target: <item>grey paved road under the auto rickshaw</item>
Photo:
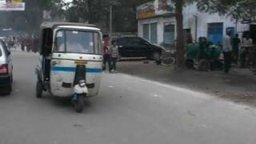
[[[256,110],[125,74],[103,74],[83,114],[34,96],[35,54],[14,55],[14,92],[0,97],[0,144],[255,144]]]

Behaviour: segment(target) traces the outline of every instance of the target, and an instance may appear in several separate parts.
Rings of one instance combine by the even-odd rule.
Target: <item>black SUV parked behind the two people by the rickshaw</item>
[[[146,57],[152,60],[159,59],[163,48],[138,37],[117,38],[120,58]]]

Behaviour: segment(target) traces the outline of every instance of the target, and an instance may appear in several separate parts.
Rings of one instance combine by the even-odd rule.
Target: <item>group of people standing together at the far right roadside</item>
[[[226,35],[223,38],[222,51],[224,54],[224,70],[229,73],[232,61],[234,64],[240,62],[241,67],[246,65],[246,57],[248,50],[253,46],[253,40],[249,34],[245,34],[244,38],[239,38],[238,34],[235,38],[231,39],[231,32],[226,31]]]

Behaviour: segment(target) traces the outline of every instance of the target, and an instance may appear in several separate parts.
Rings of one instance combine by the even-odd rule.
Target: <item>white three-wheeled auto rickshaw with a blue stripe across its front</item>
[[[36,97],[46,91],[70,97],[81,113],[85,98],[98,94],[102,77],[102,32],[94,25],[43,22],[39,41]]]

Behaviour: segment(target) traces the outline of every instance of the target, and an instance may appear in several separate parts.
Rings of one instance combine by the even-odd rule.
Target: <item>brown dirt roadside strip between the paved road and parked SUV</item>
[[[256,106],[256,75],[250,70],[233,68],[230,74],[174,70],[172,66],[157,66],[154,62],[142,60],[118,62],[118,71]]]

